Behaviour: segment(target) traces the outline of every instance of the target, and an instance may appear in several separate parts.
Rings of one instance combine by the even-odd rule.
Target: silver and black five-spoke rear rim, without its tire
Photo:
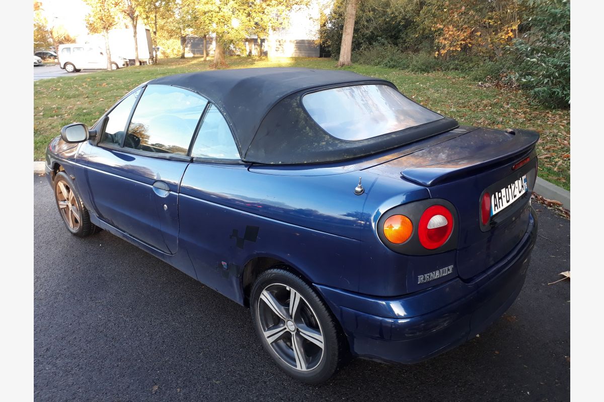
[[[291,286],[269,284],[258,300],[258,322],[275,354],[300,371],[323,360],[321,324],[310,304]]]

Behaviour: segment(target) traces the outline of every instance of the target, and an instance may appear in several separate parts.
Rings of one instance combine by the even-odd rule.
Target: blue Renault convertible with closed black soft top
[[[248,306],[275,363],[320,383],[349,356],[436,356],[506,311],[538,138],[349,71],[239,69],[141,84],[63,127],[46,165],[71,233],[108,230]]]

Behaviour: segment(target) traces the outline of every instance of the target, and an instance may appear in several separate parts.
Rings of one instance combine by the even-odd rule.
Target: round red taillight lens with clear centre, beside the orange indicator
[[[419,220],[417,236],[428,250],[439,248],[449,240],[453,231],[453,215],[441,205],[426,209]]]

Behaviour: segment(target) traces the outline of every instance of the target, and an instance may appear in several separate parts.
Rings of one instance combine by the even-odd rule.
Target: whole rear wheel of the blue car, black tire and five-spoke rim
[[[309,384],[332,377],[341,343],[335,321],[310,286],[289,271],[269,269],[255,281],[250,306],[263,347],[283,371]]]

